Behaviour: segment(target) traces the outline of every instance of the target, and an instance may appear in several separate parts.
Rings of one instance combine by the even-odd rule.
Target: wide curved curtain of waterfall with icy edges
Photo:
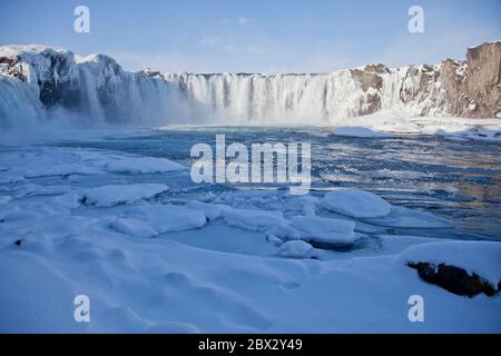
[[[39,46],[1,47],[0,59],[2,126],[41,120],[57,109],[95,122],[141,126],[328,126],[395,108],[410,115],[448,113],[445,91],[435,80],[440,67],[371,65],[272,76],[132,73],[104,55],[82,58]]]

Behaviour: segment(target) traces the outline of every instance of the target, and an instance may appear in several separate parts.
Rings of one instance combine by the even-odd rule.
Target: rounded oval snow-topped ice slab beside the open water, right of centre
[[[390,214],[391,205],[375,194],[340,188],[322,199],[325,208],[354,218],[376,218]]]

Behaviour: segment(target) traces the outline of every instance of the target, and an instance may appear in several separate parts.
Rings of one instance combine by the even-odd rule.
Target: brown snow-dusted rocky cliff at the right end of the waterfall
[[[387,76],[401,75],[400,101],[418,116],[449,115],[468,118],[501,117],[501,42],[470,48],[465,61],[445,59],[438,66],[410,66],[389,70],[383,65],[353,69],[363,91],[372,88],[370,107],[361,115],[383,108],[382,90]],[[399,81],[395,78],[393,81]]]

